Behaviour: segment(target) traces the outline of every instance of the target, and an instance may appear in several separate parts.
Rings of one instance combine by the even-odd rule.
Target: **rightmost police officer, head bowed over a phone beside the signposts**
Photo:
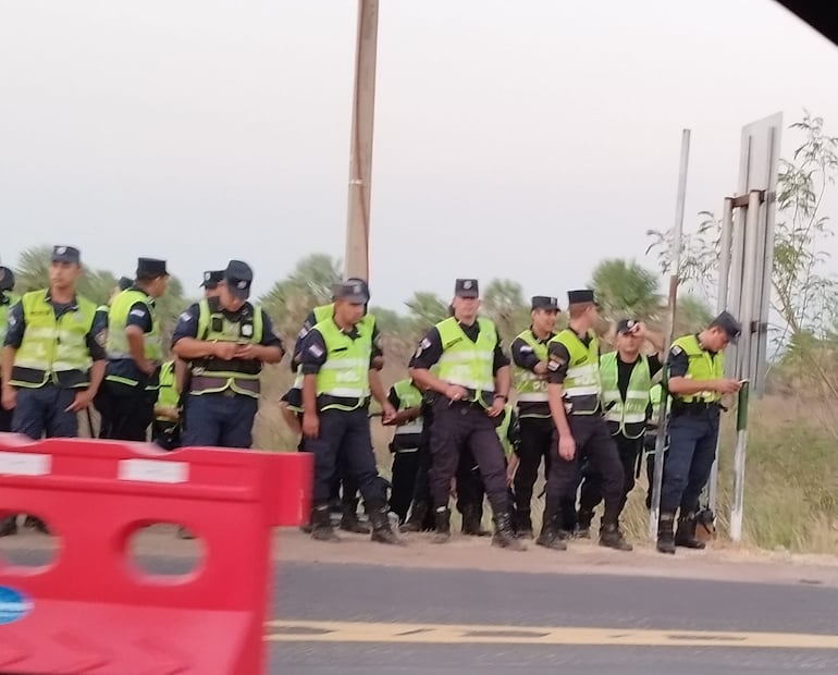
[[[667,389],[673,396],[669,451],[664,463],[657,550],[703,549],[695,539],[695,512],[716,458],[720,400],[739,391],[738,380],[724,377],[724,351],[736,344],[742,327],[723,311],[698,335],[673,342],[667,358]],[[678,531],[673,533],[679,510]]]

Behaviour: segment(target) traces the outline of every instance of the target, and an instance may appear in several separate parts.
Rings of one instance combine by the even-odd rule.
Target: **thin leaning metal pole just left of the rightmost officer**
[[[683,232],[683,207],[687,200],[687,168],[690,162],[690,130],[681,133],[681,163],[678,171],[678,195],[675,205],[675,225],[673,228],[673,248],[669,253],[669,331],[667,348],[675,340],[675,311],[678,299],[678,274],[681,269],[681,234]],[[661,516],[661,487],[664,480],[664,447],[666,446],[666,394],[661,396],[661,412],[657,419],[657,439],[655,441],[654,479],[652,481],[652,508],[649,513],[649,536],[657,536],[657,520]]]

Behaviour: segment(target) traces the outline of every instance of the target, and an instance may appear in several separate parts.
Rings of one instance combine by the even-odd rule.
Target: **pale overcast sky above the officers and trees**
[[[157,256],[190,290],[235,257],[264,292],[342,257],[356,7],[0,0],[3,263]],[[736,191],[744,124],[808,107],[838,134],[837,69],[771,0],[382,0],[373,304],[456,277],[562,295],[602,258],[642,261],[683,127],[694,226]]]

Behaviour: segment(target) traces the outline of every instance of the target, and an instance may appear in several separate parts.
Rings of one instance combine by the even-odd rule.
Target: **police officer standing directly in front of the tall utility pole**
[[[386,494],[378,476],[367,414],[372,394],[382,407],[382,421],[395,409],[380,382],[370,377],[372,334],[358,329],[367,296],[358,282],[340,283],[333,314],[315,324],[300,352],[303,369],[303,433],[306,450],[315,454],[311,535],[337,540],[329,512],[331,487],[343,455],[349,476],[363,496],[372,525],[372,540],[398,543],[387,518]]]

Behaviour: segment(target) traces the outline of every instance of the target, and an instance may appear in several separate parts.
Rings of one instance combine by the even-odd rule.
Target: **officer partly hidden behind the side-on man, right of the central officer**
[[[530,328],[512,345],[515,389],[518,392],[520,456],[515,472],[515,525],[519,537],[532,539],[532,487],[544,458],[544,476],[553,457],[553,420],[547,404],[547,343],[555,336],[558,300],[532,297]]]

